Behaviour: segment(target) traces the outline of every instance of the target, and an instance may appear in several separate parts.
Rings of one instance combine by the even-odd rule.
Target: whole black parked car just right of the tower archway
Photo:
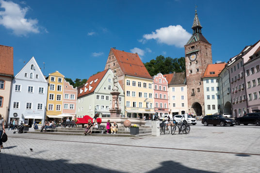
[[[227,118],[223,115],[206,115],[204,118],[202,118],[201,123],[204,124],[204,126],[213,125],[213,126],[234,126],[235,121],[233,119]]]

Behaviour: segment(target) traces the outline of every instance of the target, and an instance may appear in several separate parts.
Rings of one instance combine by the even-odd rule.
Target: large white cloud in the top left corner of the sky
[[[39,27],[37,26],[37,19],[25,18],[29,7],[22,8],[12,1],[4,0],[0,0],[0,4],[0,7],[4,8],[4,11],[0,11],[0,25],[13,30],[13,33],[16,35],[27,35],[30,32],[40,32]]]

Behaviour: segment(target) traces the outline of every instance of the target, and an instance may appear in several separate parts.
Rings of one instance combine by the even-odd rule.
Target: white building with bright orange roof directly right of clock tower
[[[219,73],[226,63],[209,64],[203,75],[205,115],[222,114],[222,88]]]

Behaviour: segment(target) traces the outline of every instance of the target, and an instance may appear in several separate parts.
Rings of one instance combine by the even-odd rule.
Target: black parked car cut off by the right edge
[[[235,118],[236,125],[244,124],[253,124],[260,126],[260,113],[247,113],[243,117]]]

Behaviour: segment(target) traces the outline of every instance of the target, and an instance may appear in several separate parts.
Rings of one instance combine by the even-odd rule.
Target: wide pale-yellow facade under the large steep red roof
[[[153,79],[125,76],[125,115],[129,118],[152,118],[154,115]]]

